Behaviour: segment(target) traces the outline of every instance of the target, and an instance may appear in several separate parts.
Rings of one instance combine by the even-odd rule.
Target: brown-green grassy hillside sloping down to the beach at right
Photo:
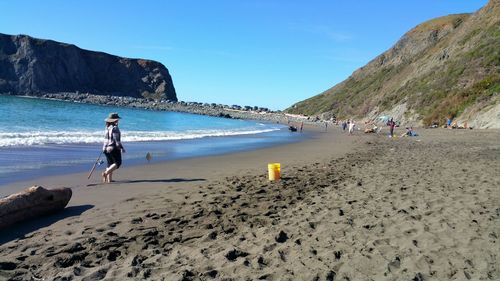
[[[500,1],[474,14],[430,20],[333,88],[290,113],[412,124],[458,118],[500,127]]]

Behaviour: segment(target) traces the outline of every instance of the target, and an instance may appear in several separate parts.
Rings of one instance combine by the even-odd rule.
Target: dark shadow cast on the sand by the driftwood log
[[[34,232],[40,228],[49,226],[57,221],[65,218],[79,216],[83,212],[92,209],[94,205],[80,205],[67,207],[64,210],[54,213],[52,215],[47,215],[43,217],[29,219],[27,221],[19,222],[14,225],[2,229],[0,231],[0,245],[10,242],[15,239],[25,239],[28,238],[27,235]]]

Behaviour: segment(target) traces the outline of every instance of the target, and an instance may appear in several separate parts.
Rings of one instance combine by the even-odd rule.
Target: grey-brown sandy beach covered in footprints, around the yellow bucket
[[[39,179],[74,197],[2,230],[0,280],[500,279],[499,131],[332,131],[123,168],[109,185]]]

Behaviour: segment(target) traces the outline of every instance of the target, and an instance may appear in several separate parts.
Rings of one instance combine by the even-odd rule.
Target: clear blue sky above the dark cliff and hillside
[[[0,32],[160,61],[184,101],[284,109],[486,0],[0,0]]]

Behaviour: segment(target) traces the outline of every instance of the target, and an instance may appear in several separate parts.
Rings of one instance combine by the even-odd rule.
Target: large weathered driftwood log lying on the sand
[[[0,229],[16,222],[64,209],[71,199],[70,188],[45,189],[32,186],[0,199]]]

